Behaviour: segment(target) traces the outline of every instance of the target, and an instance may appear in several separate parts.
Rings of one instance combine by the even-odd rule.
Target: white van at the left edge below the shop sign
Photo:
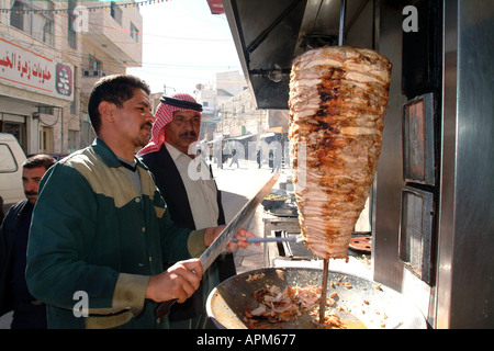
[[[25,199],[22,186],[22,165],[26,157],[12,134],[0,133],[0,196],[3,212]]]

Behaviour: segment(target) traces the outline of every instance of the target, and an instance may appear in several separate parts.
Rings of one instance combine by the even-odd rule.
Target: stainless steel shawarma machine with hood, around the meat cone
[[[288,109],[294,57],[337,45],[393,64],[372,192],[373,280],[431,328],[494,327],[491,0],[223,0],[259,109]]]

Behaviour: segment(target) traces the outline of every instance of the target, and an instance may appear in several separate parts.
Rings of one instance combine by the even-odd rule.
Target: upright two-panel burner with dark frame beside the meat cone
[[[403,107],[403,178],[400,259],[422,281],[434,275],[434,214],[436,158],[434,94],[427,93]]]

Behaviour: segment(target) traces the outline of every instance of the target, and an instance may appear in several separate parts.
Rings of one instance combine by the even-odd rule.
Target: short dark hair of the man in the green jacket
[[[89,97],[88,113],[97,135],[101,126],[101,115],[98,110],[100,103],[108,101],[122,107],[125,101],[134,97],[135,89],[142,89],[148,95],[150,94],[149,86],[141,78],[131,75],[106,76],[94,84]]]

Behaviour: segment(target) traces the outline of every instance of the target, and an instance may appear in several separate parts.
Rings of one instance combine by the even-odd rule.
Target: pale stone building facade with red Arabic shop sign
[[[93,83],[142,61],[133,1],[0,0],[0,132],[25,154],[69,154],[94,134]]]

